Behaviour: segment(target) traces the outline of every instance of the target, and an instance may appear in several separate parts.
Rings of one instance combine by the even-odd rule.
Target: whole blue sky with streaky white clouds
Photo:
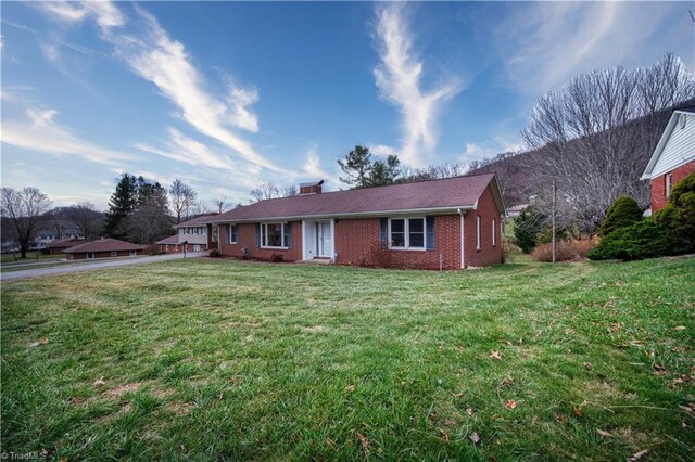
[[[355,144],[410,166],[522,147],[582,72],[692,72],[692,2],[2,2],[2,184],[105,208],[118,175],[247,202]]]

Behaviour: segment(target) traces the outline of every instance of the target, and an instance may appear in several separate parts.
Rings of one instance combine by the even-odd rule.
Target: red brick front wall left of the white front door
[[[283,261],[296,261],[302,259],[302,223],[300,221],[292,221],[289,223],[292,227],[292,248],[260,248],[255,244],[256,228],[254,223],[241,223],[239,224],[239,242],[237,244],[229,244],[227,242],[227,227],[228,224],[219,226],[219,252],[228,257],[241,257],[243,254],[241,249],[247,247],[249,249],[248,257],[261,260],[270,260],[274,254],[282,255]]]

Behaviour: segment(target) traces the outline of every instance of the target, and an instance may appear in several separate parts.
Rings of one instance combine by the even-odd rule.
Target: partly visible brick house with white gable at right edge
[[[695,106],[674,110],[642,175],[649,180],[652,214],[666,207],[673,187],[695,171]]]

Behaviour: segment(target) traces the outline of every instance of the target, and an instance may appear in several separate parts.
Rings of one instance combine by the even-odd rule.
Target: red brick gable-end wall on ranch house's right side
[[[484,267],[502,262],[502,227],[500,224],[501,210],[488,187],[478,200],[478,209],[468,210],[464,228],[464,246],[466,247],[466,267]],[[476,217],[480,217],[480,251],[476,248]],[[495,220],[496,245],[492,245],[492,220]]]

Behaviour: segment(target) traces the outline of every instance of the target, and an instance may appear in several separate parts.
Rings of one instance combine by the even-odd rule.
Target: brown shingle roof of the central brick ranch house
[[[271,198],[237,207],[206,222],[251,221],[274,218],[339,217],[380,213],[473,208],[494,174],[393,184],[323,194]],[[496,182],[496,180],[495,180]],[[496,184],[495,194],[497,195]],[[501,209],[503,208],[500,198]]]

